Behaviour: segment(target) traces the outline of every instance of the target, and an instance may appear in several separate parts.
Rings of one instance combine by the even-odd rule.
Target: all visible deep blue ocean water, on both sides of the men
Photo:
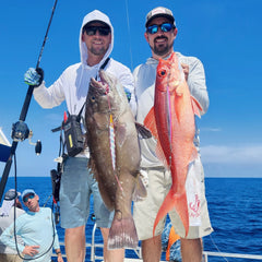
[[[17,190],[34,188],[40,196],[40,205],[51,206],[51,179],[49,177],[19,177]],[[14,188],[10,177],[5,190]],[[206,199],[214,233],[203,239],[204,250],[226,253],[262,255],[262,179],[260,178],[205,178]],[[93,209],[91,209],[91,214]],[[86,241],[91,242],[94,222],[88,218]],[[57,226],[60,241],[64,241],[64,230]],[[99,230],[96,242],[102,243]],[[98,250],[98,254],[99,254]],[[102,255],[102,254],[99,254]],[[86,261],[90,253],[86,254]],[[209,261],[251,262],[248,259],[209,257]],[[253,260],[257,261],[257,260]]]

